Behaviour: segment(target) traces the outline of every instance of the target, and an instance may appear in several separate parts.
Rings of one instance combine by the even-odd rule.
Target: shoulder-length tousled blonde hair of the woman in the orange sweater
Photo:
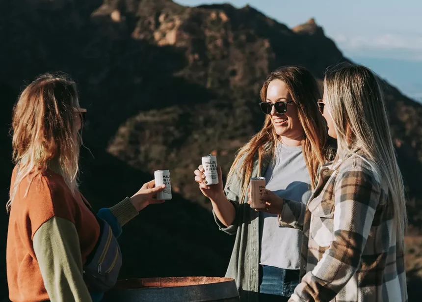
[[[71,192],[77,192],[81,140],[74,111],[78,108],[76,84],[61,74],[44,74],[21,93],[12,118],[13,161],[18,169],[8,212],[24,178],[29,176],[26,196],[34,178],[50,166],[63,176]]]

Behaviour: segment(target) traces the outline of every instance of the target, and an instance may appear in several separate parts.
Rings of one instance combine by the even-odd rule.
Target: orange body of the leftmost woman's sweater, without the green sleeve
[[[16,178],[13,170],[11,188]],[[24,197],[26,177],[20,184],[10,211],[7,233],[7,282],[13,302],[40,302],[49,299],[33,249],[32,239],[38,228],[53,217],[75,224],[79,235],[82,262],[95,247],[100,227],[79,194],[73,196],[63,178],[47,170],[36,177]]]

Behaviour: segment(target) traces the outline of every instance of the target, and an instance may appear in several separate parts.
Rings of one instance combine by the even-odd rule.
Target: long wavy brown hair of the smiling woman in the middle
[[[286,83],[291,99],[297,106],[300,123],[304,130],[302,149],[306,165],[311,175],[311,185],[314,189],[317,181],[317,170],[320,165],[327,162],[330,157],[330,149],[327,147],[327,127],[324,118],[318,110],[317,102],[321,98],[317,81],[311,72],[301,66],[281,67],[273,71],[265,80],[261,88],[261,101],[265,102],[268,84],[274,80],[281,80]],[[266,115],[264,126],[252,139],[237,152],[235,161],[227,176],[228,182],[234,173],[240,175],[241,194],[239,202],[245,199],[249,181],[252,176],[253,164],[258,155],[259,170],[261,175],[261,164],[266,152],[275,156],[276,142],[279,136],[272,125],[271,118]],[[271,144],[270,150],[265,146]]]

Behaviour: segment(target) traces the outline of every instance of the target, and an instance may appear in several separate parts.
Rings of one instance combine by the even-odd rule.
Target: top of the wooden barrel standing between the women
[[[238,302],[231,278],[172,277],[117,281],[102,302]]]

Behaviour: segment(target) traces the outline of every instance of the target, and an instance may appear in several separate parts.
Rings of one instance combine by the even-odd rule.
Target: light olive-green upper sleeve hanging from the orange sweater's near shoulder
[[[72,222],[58,217],[44,222],[33,245],[51,302],[92,302],[83,281],[79,238]]]

